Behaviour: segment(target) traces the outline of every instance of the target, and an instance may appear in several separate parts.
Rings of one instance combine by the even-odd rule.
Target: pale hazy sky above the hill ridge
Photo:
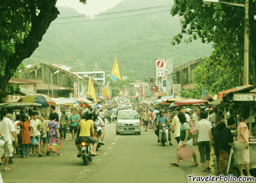
[[[74,8],[80,13],[86,15],[95,15],[104,10],[114,7],[121,0],[86,0],[87,4],[83,5],[79,0],[58,0],[58,6],[68,6]]]

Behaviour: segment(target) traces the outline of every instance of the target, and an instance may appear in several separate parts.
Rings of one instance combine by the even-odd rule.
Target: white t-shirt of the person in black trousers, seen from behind
[[[198,130],[197,141],[210,141],[209,130],[212,128],[212,124],[206,119],[202,119],[197,122],[196,129]]]

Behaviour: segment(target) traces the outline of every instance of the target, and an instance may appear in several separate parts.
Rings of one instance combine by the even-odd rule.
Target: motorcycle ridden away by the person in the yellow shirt
[[[92,161],[95,157],[91,154],[92,146],[90,145],[90,142],[87,139],[82,139],[80,143],[80,149],[82,151],[82,155],[77,157],[82,157],[84,165],[88,165],[89,161]]]

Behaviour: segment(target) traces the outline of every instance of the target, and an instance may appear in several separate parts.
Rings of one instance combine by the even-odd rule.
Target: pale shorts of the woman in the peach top
[[[250,162],[250,155],[249,155],[249,148],[246,148],[244,142],[236,142],[236,149],[237,149],[237,164],[249,164]]]

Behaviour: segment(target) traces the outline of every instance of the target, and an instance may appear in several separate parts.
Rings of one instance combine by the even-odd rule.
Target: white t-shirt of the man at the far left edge
[[[12,144],[11,132],[15,132],[13,122],[9,118],[0,121],[0,130],[7,144]]]

